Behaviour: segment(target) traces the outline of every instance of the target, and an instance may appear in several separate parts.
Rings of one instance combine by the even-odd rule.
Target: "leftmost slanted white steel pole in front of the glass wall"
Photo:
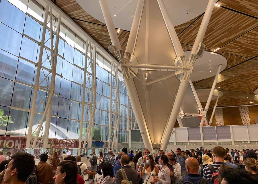
[[[48,21],[48,10],[49,6],[46,6],[45,10],[45,19],[43,24],[43,31],[42,31],[42,38],[41,38],[41,45],[40,45],[40,54],[39,54],[39,60],[37,65],[37,73],[36,73],[36,80],[34,85],[34,93],[33,93],[33,100],[32,100],[32,107],[30,111],[30,123],[28,128],[28,134],[27,134],[27,142],[26,142],[26,148],[30,148],[30,141],[32,137],[32,127],[34,122],[34,116],[36,113],[36,101],[37,101],[37,95],[38,95],[38,87],[39,87],[39,78],[40,78],[40,70],[41,70],[41,64],[42,64],[42,56],[43,56],[43,49],[44,49],[44,42],[45,42],[45,35],[46,35],[46,26]]]

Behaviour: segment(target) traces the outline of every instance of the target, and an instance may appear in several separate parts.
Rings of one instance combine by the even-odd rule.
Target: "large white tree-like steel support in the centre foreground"
[[[173,109],[170,114],[169,121],[167,123],[167,127],[165,128],[165,131],[163,133],[162,137],[162,142],[161,142],[161,149],[166,150],[167,144],[169,142],[169,138],[171,136],[171,132],[173,130],[175,120],[177,118],[185,91],[187,89],[189,79],[190,79],[190,74],[192,72],[193,64],[196,61],[197,58],[200,58],[202,56],[202,53],[204,52],[204,45],[202,44],[205,31],[208,26],[208,22],[212,13],[212,9],[214,6],[215,0],[210,0],[206,9],[206,12],[204,14],[204,18],[202,20],[200,29],[197,34],[197,38],[195,40],[195,43],[193,45],[193,49],[190,54],[190,59],[189,61],[185,60],[185,54],[183,52],[183,49],[181,47],[181,43],[179,42],[179,39],[177,37],[177,34],[175,32],[175,29],[173,27],[173,24],[169,18],[169,15],[167,13],[167,10],[165,8],[163,0],[157,0],[159,4],[159,8],[161,10],[163,20],[165,22],[165,25],[167,27],[167,30],[169,32],[170,38],[172,40],[176,55],[177,55],[177,60],[180,62],[181,65],[179,66],[148,66],[148,65],[132,65],[129,64],[130,58],[132,56],[133,50],[134,50],[134,44],[135,40],[137,37],[137,32],[138,32],[138,26],[140,24],[140,18],[141,18],[141,13],[142,13],[142,8],[143,8],[143,0],[139,0],[137,7],[136,7],[136,12],[134,15],[134,20],[132,23],[132,28],[130,31],[128,43],[126,46],[126,51],[125,54],[123,55],[122,48],[118,39],[118,36],[116,34],[116,29],[114,27],[114,23],[112,21],[107,2],[106,0],[99,0],[101,10],[105,19],[105,23],[107,25],[107,29],[110,35],[110,39],[112,41],[112,45],[115,48],[115,53],[116,56],[118,57],[120,61],[120,66],[124,75],[124,83],[126,85],[127,91],[129,98],[131,99],[131,104],[132,108],[134,109],[135,117],[138,122],[138,126],[140,128],[140,133],[142,135],[142,139],[144,141],[144,145],[146,148],[149,150],[153,149],[152,148],[152,143],[150,139],[150,135],[148,133],[148,128],[143,116],[142,108],[140,105],[139,97],[136,91],[135,84],[130,77],[130,74],[128,72],[128,68],[150,68],[150,69],[168,69],[168,70],[182,70],[182,77],[181,77],[181,83],[179,85],[179,90],[180,93],[177,93],[175,102],[173,105]],[[198,47],[199,46],[199,47]],[[124,57],[125,56],[125,57]],[[116,129],[116,128],[115,128]],[[114,143],[114,141],[113,141]]]

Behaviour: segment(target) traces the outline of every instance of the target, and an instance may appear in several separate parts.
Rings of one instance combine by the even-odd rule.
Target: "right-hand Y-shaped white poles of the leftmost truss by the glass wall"
[[[55,80],[56,80],[56,62],[57,62],[57,54],[58,54],[58,44],[59,44],[59,33],[60,33],[60,24],[61,24],[61,16],[58,15],[57,29],[56,29],[56,43],[55,47],[53,43],[53,21],[52,20],[52,8],[50,8],[50,41],[51,41],[51,84],[49,92],[54,94],[55,91]],[[53,48],[54,47],[54,48]],[[50,100],[50,99],[49,99]],[[43,148],[47,148],[48,145],[48,135],[50,130],[50,121],[52,115],[52,105],[53,105],[53,97],[51,98],[51,102],[48,108],[46,123],[45,123],[45,131],[43,137]]]

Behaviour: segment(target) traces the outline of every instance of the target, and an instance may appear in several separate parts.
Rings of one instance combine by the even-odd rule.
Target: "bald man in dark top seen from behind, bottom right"
[[[190,181],[193,184],[203,184],[203,183],[210,183],[207,179],[202,178],[198,172],[199,163],[198,160],[194,157],[189,157],[185,160],[185,170],[187,172],[187,176],[182,179],[182,183],[185,181]],[[202,181],[201,181],[202,180]],[[179,182],[180,183],[180,182]]]

